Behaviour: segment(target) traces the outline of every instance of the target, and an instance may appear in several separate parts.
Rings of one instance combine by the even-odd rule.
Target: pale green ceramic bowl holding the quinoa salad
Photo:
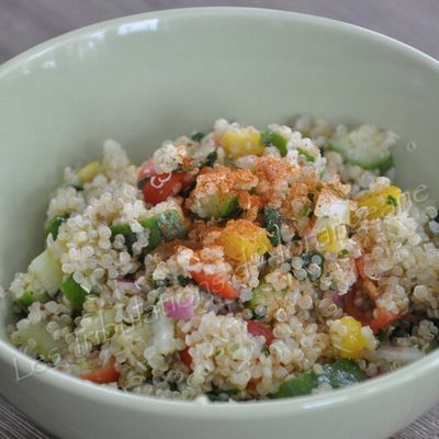
[[[142,160],[219,117],[299,113],[397,132],[398,182],[439,200],[439,65],[373,32],[286,12],[187,9],[87,27],[0,68],[0,283],[43,245],[61,169],[108,137]],[[408,147],[407,147],[408,145]],[[384,438],[439,395],[439,351],[389,376],[291,401],[195,405],[123,394],[42,369],[7,340],[1,392],[63,438]]]

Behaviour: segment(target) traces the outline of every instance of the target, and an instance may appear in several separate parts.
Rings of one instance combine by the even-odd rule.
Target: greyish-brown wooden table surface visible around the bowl
[[[273,8],[328,16],[390,35],[439,58],[439,0],[0,0],[0,64],[37,43],[93,22],[201,5]],[[0,438],[54,439],[1,397]],[[439,405],[393,437],[435,438],[439,439]]]

